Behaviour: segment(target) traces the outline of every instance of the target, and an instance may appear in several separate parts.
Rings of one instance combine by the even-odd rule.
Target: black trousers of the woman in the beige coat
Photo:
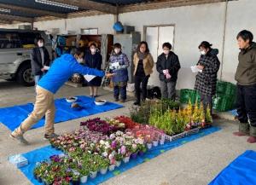
[[[135,95],[137,102],[141,102],[141,84],[142,84],[142,92],[143,92],[143,97],[142,100],[145,101],[147,97],[147,86],[148,86],[148,76],[135,76],[134,81],[135,81]]]

